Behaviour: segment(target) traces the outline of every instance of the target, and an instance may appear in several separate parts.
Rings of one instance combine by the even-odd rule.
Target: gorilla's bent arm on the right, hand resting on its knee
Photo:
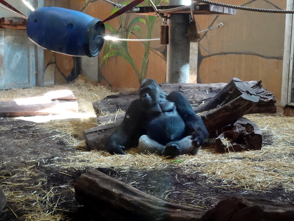
[[[192,135],[193,145],[202,146],[208,136],[208,131],[202,119],[194,113],[187,98],[180,92],[172,92],[166,99],[176,104],[176,109],[185,122],[187,135]]]

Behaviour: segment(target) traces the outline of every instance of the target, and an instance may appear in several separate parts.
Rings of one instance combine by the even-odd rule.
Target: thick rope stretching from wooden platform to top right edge
[[[216,6],[222,6],[222,7],[231,8],[231,9],[240,9],[240,10],[245,10],[245,11],[257,11],[257,12],[280,13],[280,14],[294,14],[294,11],[290,11],[290,10],[256,9],[256,8],[249,8],[249,7],[243,7],[243,6],[222,4],[222,3],[213,2],[213,1],[207,1],[207,0],[195,0],[195,1],[196,1],[196,3],[201,2],[201,3],[206,3],[206,4],[216,5]]]

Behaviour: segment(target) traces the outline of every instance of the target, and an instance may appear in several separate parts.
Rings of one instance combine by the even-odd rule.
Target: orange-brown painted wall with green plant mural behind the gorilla
[[[156,1],[156,4],[161,4],[159,0]],[[45,2],[51,4],[50,6],[82,11],[102,20],[117,10],[103,0]],[[146,2],[144,5],[148,4],[148,1]],[[264,9],[286,8],[286,0],[217,2]],[[196,15],[195,19],[198,31],[220,22],[224,24],[221,28],[203,33],[198,42],[197,83],[229,82],[232,77],[238,77],[243,81],[262,80],[263,86],[274,93],[279,105],[285,14],[237,10],[236,15]],[[122,38],[159,38],[161,25],[162,21],[158,17],[123,14],[107,22],[106,32],[120,34]],[[106,41],[100,55],[91,58],[98,59],[98,67],[93,67],[97,72],[96,79],[101,85],[111,85],[114,90],[123,91],[137,90],[141,80],[146,77],[162,83],[166,79],[166,49],[167,46],[161,45],[159,41]],[[53,56],[52,52],[46,53],[48,64],[51,62],[51,65],[55,65],[55,83],[66,83],[71,80],[73,58],[66,55]],[[50,69],[50,65],[46,67],[47,70]]]

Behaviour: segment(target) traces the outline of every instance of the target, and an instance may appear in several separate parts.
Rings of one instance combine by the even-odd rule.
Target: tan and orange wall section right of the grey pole
[[[286,1],[218,0],[263,9],[286,9]],[[198,44],[197,83],[262,80],[280,104],[285,14],[237,10],[236,15],[195,16],[199,29],[223,22],[206,32]]]

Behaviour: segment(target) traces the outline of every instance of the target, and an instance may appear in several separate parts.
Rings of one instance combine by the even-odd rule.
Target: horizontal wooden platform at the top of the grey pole
[[[157,9],[166,10],[166,9],[173,9],[176,7],[181,7],[183,5],[167,5],[167,6],[156,6]],[[199,9],[197,9],[199,6]],[[152,6],[146,7],[136,7],[139,8],[139,11],[127,11],[127,14],[137,14],[137,15],[153,15],[157,16]],[[190,7],[186,9],[181,9],[178,11],[169,11],[165,14],[181,14],[181,13],[191,13]],[[220,14],[236,14],[236,9],[230,9],[221,6],[215,6],[210,4],[199,4],[197,7],[194,7],[194,14],[195,15],[220,15]]]

